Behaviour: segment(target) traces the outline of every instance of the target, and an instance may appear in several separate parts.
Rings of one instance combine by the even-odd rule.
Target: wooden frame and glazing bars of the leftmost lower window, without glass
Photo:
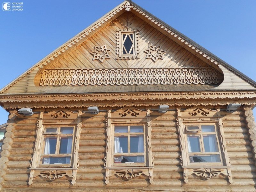
[[[57,128],[56,133],[46,133],[47,127],[51,128]],[[73,127],[73,134],[60,134],[60,129],[62,127]],[[40,168],[49,168],[49,167],[54,167],[54,168],[60,168],[60,167],[67,167],[70,168],[72,167],[72,162],[74,159],[74,154],[73,154],[73,148],[74,148],[74,135],[75,135],[75,125],[63,125],[63,124],[56,124],[56,125],[44,125],[43,126],[43,134],[42,134],[42,144],[39,149],[39,155],[38,155],[38,160],[37,160],[37,167]],[[61,136],[72,136],[72,146],[71,146],[71,153],[70,154],[59,154],[56,153],[57,151],[60,150],[60,137]],[[56,149],[55,149],[55,154],[44,154],[44,148],[45,148],[45,139],[47,137],[57,137],[57,144],[56,144]],[[61,157],[61,156],[70,156],[70,163],[69,164],[42,164],[41,162],[41,157]]]

